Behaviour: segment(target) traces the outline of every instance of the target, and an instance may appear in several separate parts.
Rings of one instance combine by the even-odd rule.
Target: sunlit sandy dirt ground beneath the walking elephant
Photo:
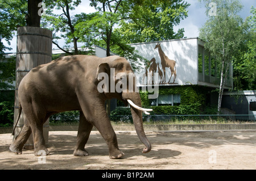
[[[35,157],[33,150],[22,155],[9,151],[12,138],[0,134],[0,169],[256,169],[256,131],[146,132],[152,145],[144,145],[134,131],[115,131],[125,156],[110,159],[100,133],[90,134],[87,157],[74,157],[77,132],[49,132],[51,154]]]

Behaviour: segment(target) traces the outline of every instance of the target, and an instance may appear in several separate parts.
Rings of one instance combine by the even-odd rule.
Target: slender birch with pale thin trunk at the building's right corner
[[[208,20],[200,30],[200,39],[205,42],[205,48],[209,49],[221,65],[221,81],[218,93],[218,111],[221,108],[222,94],[230,64],[233,57],[244,42],[243,20],[237,13],[242,9],[238,0],[201,0],[207,7]],[[209,3],[212,3],[209,6]],[[211,13],[216,7],[216,13]]]

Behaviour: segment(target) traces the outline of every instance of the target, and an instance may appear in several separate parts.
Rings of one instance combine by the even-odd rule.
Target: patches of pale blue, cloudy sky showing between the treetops
[[[190,4],[190,6],[188,7],[188,17],[184,20],[181,20],[180,24],[176,26],[174,30],[177,31],[179,28],[184,28],[185,37],[197,37],[199,36],[200,28],[207,21],[207,16],[205,15],[205,7],[198,0],[187,0],[187,2]],[[90,12],[94,12],[95,11],[94,7],[90,7],[89,3],[90,3],[89,0],[82,0],[82,3],[76,8],[75,11],[71,12],[71,14],[74,15],[74,14],[79,14],[81,12],[85,12],[88,14]],[[251,6],[256,7],[256,1],[241,0],[241,3],[243,5],[243,9],[239,15],[243,19],[245,19],[247,16],[251,15],[250,14]],[[64,41],[59,40],[59,44],[63,45]],[[5,43],[5,45],[7,46],[7,43]],[[16,36],[14,36],[13,40],[11,40],[10,47],[13,49],[6,51],[6,53],[16,51]],[[52,45],[52,48],[56,48],[56,46]]]

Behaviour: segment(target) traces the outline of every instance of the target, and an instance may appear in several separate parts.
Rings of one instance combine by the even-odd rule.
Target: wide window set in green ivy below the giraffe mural
[[[179,106],[180,94],[159,95],[157,99],[150,99],[150,106]]]

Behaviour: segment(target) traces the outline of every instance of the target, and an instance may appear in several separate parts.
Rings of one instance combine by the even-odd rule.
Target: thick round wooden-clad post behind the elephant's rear
[[[36,66],[52,61],[52,32],[39,27],[19,27],[17,30],[16,49],[16,83],[14,122],[18,117],[19,98],[18,87],[22,78]],[[24,125],[25,118],[20,116],[15,129],[14,138],[18,136]],[[14,123],[15,125],[16,123]],[[44,124],[44,140],[48,143],[49,120]],[[26,149],[34,149],[32,134],[24,145]]]

